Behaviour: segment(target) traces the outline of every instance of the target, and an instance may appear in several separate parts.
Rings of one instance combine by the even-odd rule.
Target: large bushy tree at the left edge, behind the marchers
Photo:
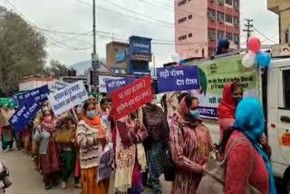
[[[17,90],[18,81],[43,72],[46,52],[43,34],[0,6],[0,92]]]

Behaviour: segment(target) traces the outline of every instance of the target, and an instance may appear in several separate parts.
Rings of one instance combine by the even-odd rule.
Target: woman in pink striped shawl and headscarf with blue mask
[[[178,121],[170,122],[170,150],[176,165],[172,194],[195,194],[212,150],[209,131],[198,116],[198,99],[187,95],[179,102]]]

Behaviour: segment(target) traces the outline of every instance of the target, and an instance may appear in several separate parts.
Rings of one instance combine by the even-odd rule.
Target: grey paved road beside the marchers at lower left
[[[31,158],[21,151],[4,153],[0,150],[0,160],[4,160],[10,170],[10,180],[13,185],[6,189],[5,194],[80,194],[80,189],[73,188],[73,180],[68,184],[68,189],[60,187],[45,190],[42,176],[34,170],[34,162]],[[162,181],[164,184],[165,182]],[[169,184],[166,188],[169,189]],[[152,193],[149,189],[144,194]],[[165,193],[169,193],[165,192]]]

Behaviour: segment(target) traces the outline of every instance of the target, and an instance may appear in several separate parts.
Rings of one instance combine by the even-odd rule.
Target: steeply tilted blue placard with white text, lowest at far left
[[[36,112],[38,112],[40,108],[40,105],[34,101],[34,97],[27,98],[24,101],[24,105],[20,107],[9,119],[14,131],[24,131],[25,125],[34,119]]]

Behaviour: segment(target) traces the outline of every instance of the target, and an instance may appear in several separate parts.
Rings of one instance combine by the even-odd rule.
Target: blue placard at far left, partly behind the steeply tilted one
[[[48,94],[48,85],[43,85],[42,87],[36,88],[34,90],[17,94],[17,99],[19,102],[19,106],[24,105],[24,101],[30,97],[33,97],[35,102],[41,103],[47,101]]]

